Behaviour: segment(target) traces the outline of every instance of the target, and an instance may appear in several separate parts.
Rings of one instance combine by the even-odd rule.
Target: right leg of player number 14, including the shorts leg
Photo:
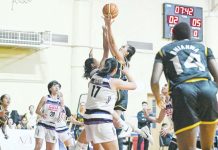
[[[203,150],[211,150],[218,122],[217,85],[212,81],[199,83],[200,141]]]

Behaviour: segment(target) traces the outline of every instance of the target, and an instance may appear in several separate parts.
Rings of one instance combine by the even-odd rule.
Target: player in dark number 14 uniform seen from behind
[[[163,107],[159,80],[164,71],[173,101],[173,123],[179,149],[196,149],[199,126],[202,149],[210,150],[218,122],[215,58],[210,48],[191,40],[187,23],[181,22],[173,28],[173,40],[156,55],[151,77],[153,94],[158,106]],[[216,83],[211,80],[210,73]]]

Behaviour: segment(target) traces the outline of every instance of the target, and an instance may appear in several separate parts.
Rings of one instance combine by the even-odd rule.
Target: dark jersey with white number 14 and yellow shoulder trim
[[[172,89],[189,79],[210,79],[207,64],[209,59],[214,59],[210,48],[186,39],[162,47],[157,53],[155,61],[163,63],[165,77]]]

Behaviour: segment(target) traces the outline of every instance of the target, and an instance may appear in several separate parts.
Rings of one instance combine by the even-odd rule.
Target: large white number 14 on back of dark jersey
[[[183,73],[182,65],[180,64],[179,57],[175,56],[171,59],[177,75]],[[200,71],[205,71],[205,66],[201,63],[200,54],[190,53],[184,63],[185,68],[198,68]]]

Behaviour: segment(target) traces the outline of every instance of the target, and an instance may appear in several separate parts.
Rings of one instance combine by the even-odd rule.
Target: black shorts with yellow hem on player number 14
[[[217,85],[210,80],[185,82],[173,88],[175,133],[218,122]]]

